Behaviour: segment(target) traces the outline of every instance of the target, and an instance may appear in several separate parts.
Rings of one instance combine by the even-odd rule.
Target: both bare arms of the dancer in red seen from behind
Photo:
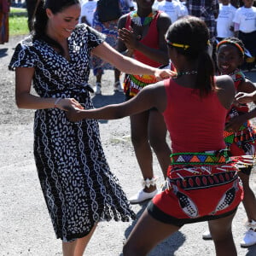
[[[229,109],[235,96],[233,80],[230,76],[220,76],[217,78],[217,85],[219,101],[224,108]],[[164,82],[160,81],[157,84],[146,86],[137,96],[127,102],[90,110],[67,108],[67,119],[73,122],[81,119],[121,119],[150,108],[157,108],[160,113],[163,113],[166,105],[166,89]]]

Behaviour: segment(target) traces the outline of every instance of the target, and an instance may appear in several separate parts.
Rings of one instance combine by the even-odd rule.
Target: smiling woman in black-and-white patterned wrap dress
[[[33,35],[15,49],[16,103],[37,109],[34,156],[55,234],[64,255],[82,255],[100,220],[135,218],[117,178],[109,171],[96,120],[67,120],[64,109],[93,108],[87,90],[90,53],[126,73],[169,76],[120,55],[90,26],[78,25],[79,0],[38,3]],[[30,93],[33,84],[38,96]]]

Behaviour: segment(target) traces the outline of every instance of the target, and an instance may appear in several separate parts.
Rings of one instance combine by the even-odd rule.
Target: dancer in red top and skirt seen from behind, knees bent
[[[234,100],[233,80],[214,77],[209,32],[196,17],[177,20],[166,32],[177,74],[148,85],[130,101],[67,118],[118,119],[149,108],[163,114],[172,140],[166,185],[154,196],[125,242],[124,255],[147,255],[183,224],[208,221],[216,254],[236,255],[231,224],[243,192],[224,143],[225,117]]]

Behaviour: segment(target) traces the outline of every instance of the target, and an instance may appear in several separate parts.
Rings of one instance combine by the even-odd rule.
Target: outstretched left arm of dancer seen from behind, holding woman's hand
[[[148,85],[130,101],[120,104],[89,110],[67,108],[67,119],[120,119],[150,108],[157,108],[160,112],[166,109],[166,89],[163,82]]]

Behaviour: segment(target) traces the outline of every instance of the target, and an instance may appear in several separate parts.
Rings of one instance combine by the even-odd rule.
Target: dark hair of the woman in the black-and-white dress
[[[54,46],[57,49],[60,49],[61,54],[64,53],[64,50],[58,42],[54,39],[49,38],[46,35],[46,26],[48,22],[48,16],[46,15],[46,9],[50,9],[51,12],[55,15],[60,13],[62,10],[67,9],[67,7],[72,6],[73,4],[78,4],[79,0],[38,0],[32,21],[32,35],[33,40],[44,40],[46,43]]]

